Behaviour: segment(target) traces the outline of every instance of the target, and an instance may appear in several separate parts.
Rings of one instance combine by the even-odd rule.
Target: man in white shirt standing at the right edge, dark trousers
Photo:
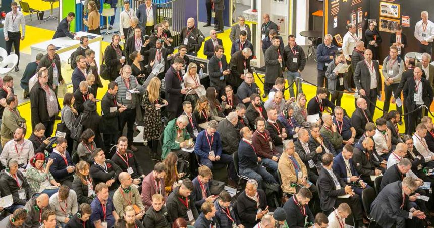
[[[419,40],[419,52],[432,55],[432,39],[434,38],[434,23],[428,20],[428,12],[420,13],[422,20],[416,23],[414,37]]]

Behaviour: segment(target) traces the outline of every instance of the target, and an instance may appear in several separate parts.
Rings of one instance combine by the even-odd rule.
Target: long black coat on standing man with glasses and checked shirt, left
[[[55,91],[50,84],[48,84],[48,86],[52,91]],[[57,102],[58,109],[60,111],[61,108],[56,93],[51,94],[51,96],[54,96]],[[30,108],[32,116],[32,128],[34,128],[36,124],[50,120],[47,109],[46,92],[41,87],[41,84],[39,84],[39,82],[35,83],[35,85],[32,87],[32,90],[30,91]]]

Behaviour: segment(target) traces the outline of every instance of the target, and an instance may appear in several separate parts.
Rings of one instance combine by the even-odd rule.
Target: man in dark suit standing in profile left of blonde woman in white
[[[168,112],[168,121],[181,115],[182,105],[179,104],[182,103],[182,97],[187,94],[184,80],[179,72],[183,64],[184,60],[180,56],[177,56],[172,66],[165,74],[165,92],[166,100],[168,101],[166,110]]]

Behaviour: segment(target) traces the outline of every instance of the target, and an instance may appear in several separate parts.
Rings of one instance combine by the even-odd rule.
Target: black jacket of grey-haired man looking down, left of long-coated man
[[[244,61],[246,66],[244,66]],[[231,69],[231,74],[226,77],[226,82],[232,87],[239,87],[241,83],[243,83],[244,80],[241,79],[240,76],[244,74],[244,69],[253,73],[253,70],[250,68],[250,60],[244,58],[241,51],[237,51],[231,55],[229,69]]]

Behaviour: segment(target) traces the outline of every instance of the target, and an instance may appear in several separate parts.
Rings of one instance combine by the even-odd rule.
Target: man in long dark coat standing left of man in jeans
[[[273,36],[273,45],[265,51],[265,83],[263,98],[267,96],[270,89],[273,87],[276,78],[282,77],[284,66],[282,55],[284,49],[280,47],[280,39],[278,36]],[[293,95],[291,95],[293,96]]]

